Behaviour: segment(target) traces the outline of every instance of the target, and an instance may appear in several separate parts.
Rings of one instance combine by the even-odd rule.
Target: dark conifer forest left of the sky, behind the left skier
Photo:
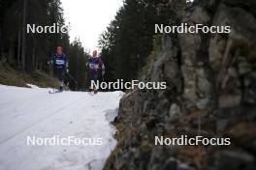
[[[49,61],[61,45],[69,58],[70,88],[80,90],[86,83],[86,59],[80,40],[70,42],[68,33],[27,34],[26,25],[65,25],[60,0],[0,1],[0,61],[17,71],[50,74]]]

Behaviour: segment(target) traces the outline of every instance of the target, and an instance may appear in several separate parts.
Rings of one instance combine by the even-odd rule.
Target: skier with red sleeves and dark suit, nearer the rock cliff
[[[99,80],[100,69],[102,70],[102,75],[105,74],[105,66],[101,58],[98,57],[97,50],[94,50],[92,56],[88,58],[86,66],[88,67],[88,70],[89,70],[90,82],[93,81],[94,83],[96,83],[96,81]],[[90,89],[90,91],[92,90],[94,91],[94,93],[98,92],[97,89]]]

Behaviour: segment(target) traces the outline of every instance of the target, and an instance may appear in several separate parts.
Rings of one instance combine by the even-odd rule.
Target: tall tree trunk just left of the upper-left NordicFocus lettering
[[[23,19],[22,19],[22,43],[21,43],[21,69],[25,70],[25,55],[26,55],[26,14],[27,0],[23,0]]]

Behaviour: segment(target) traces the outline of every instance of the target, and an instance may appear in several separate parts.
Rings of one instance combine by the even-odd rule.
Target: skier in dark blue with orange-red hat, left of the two
[[[57,47],[57,52],[54,55],[53,64],[57,70],[57,77],[59,80],[59,91],[63,91],[64,76],[69,71],[68,70],[68,59],[66,55],[62,52],[62,47]]]

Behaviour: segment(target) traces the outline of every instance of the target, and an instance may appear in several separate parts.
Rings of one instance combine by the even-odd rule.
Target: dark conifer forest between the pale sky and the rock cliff
[[[179,13],[191,5],[185,0],[174,3],[171,8],[169,0],[124,0],[99,39],[107,81],[130,81],[144,76],[161,45],[162,35],[155,34],[155,24],[178,23]]]

